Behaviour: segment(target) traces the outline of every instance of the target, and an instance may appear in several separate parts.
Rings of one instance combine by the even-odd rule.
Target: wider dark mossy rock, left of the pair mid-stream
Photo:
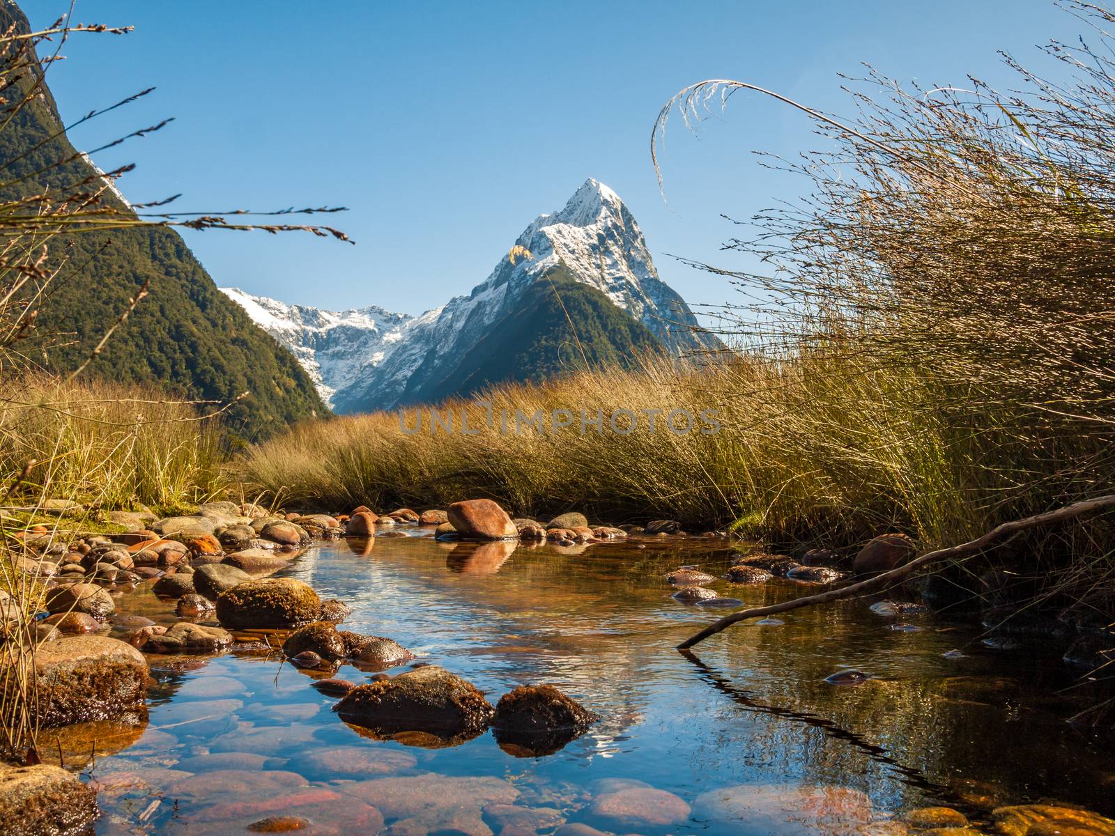
[[[474,686],[436,665],[355,688],[333,710],[347,722],[388,735],[425,731],[442,738],[479,735],[495,712]]]

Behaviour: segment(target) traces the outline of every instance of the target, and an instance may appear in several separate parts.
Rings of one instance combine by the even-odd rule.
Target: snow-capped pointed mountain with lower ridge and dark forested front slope
[[[515,244],[532,257],[503,256],[467,297],[411,319],[381,309],[336,313],[235,289],[225,293],[320,375],[319,389],[339,412],[432,401],[487,382],[536,380],[583,368],[585,360],[599,368],[647,353],[681,357],[724,348],[658,278],[634,216],[602,183],[588,179],[564,208],[540,215]],[[379,319],[363,336],[306,324],[355,322],[368,310]],[[326,363],[318,358],[320,346],[331,352]]]

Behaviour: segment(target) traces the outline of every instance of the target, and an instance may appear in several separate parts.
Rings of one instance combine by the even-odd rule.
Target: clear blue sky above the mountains
[[[23,3],[51,22],[61,0]],[[74,132],[96,147],[175,121],[97,157],[137,164],[133,201],[183,193],[188,210],[345,205],[356,246],[311,236],[186,233],[222,285],[326,308],[418,313],[483,281],[537,214],[592,176],[642,227],[662,278],[697,303],[723,279],[667,255],[747,266],[723,253],[747,218],[804,187],[752,150],[816,147],[803,116],[736,96],[694,138],[675,120],[659,196],[648,139],[661,105],[711,77],[847,113],[837,72],[870,62],[922,85],[1000,87],[996,50],[1083,29],[1046,0],[782,2],[288,2],[78,0],[76,19],[132,25],[75,37],[51,70],[64,117],[157,90]]]

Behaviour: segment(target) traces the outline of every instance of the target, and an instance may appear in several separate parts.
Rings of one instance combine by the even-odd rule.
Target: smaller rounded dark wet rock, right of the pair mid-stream
[[[496,742],[550,755],[600,718],[553,686],[520,686],[500,698],[492,718]]]

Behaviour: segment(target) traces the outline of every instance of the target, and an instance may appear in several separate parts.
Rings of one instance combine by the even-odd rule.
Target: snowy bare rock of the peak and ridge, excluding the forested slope
[[[564,208],[540,215],[515,244],[533,257],[505,255],[472,293],[415,318],[378,308],[334,313],[234,289],[225,293],[294,350],[339,412],[391,409],[452,390],[462,359],[554,271],[603,293],[673,356],[723,348],[697,329],[681,297],[658,278],[634,216],[604,184],[586,181]]]

